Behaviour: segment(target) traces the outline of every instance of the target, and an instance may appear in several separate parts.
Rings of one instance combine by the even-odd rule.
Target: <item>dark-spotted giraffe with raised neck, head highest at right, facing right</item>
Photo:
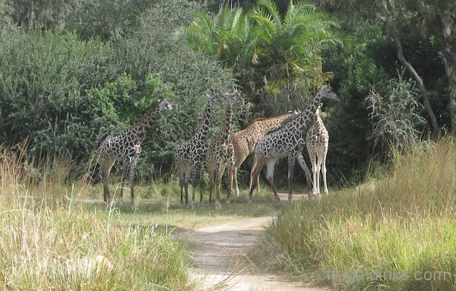
[[[329,84],[322,86],[318,90],[318,93],[316,93],[314,100],[311,101],[309,106],[307,106],[307,108],[301,112],[298,117],[294,118],[293,121],[286,123],[286,125],[278,131],[269,133],[257,143],[257,146],[254,148],[254,163],[250,174],[251,187],[249,190],[249,200],[252,199],[252,192],[254,190],[253,183],[258,180],[259,172],[264,165],[266,165],[267,168],[266,178],[274,191],[276,200],[279,200],[279,195],[277,195],[277,190],[274,185],[274,166],[276,161],[280,158],[288,156],[288,199],[290,201],[293,193],[294,160],[296,159],[298,161],[301,168],[306,171],[306,175],[310,175],[309,168],[307,168],[302,155],[302,150],[305,146],[304,133],[307,126],[309,126],[312,113],[315,113],[316,108],[321,103],[323,98],[338,101],[336,93],[333,93]]]

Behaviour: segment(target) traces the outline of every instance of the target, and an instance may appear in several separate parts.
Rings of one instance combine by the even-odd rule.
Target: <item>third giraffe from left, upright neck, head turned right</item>
[[[244,103],[244,99],[241,98],[239,93],[233,101]],[[219,136],[212,140],[206,155],[207,173],[209,173],[209,203],[212,203],[212,189],[215,184],[217,193],[215,201],[216,209],[222,208],[222,205],[220,204],[220,184],[222,183],[224,170],[227,166],[228,170],[231,170],[231,167],[234,164],[234,148],[230,138],[232,119],[233,103],[230,102],[227,107],[224,127]],[[231,190],[232,188],[228,185],[227,203],[229,203]]]

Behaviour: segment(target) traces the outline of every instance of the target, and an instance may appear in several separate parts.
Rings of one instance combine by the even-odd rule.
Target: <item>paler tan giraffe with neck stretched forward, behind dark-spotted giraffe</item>
[[[236,195],[239,196],[239,185],[237,183],[237,170],[244,163],[247,156],[252,153],[255,145],[258,141],[263,138],[269,131],[274,131],[277,128],[281,128],[286,123],[291,121],[293,118],[298,116],[299,111],[289,111],[289,113],[282,114],[281,116],[275,116],[271,118],[257,118],[250,123],[247,128],[242,131],[234,133],[231,137],[231,142],[234,147],[234,165],[229,173],[229,185],[231,188],[236,187]],[[257,186],[259,183],[257,181]]]

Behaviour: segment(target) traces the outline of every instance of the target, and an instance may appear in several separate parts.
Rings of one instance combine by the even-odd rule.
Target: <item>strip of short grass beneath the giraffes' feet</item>
[[[115,191],[115,184],[110,185],[111,191]],[[266,192],[266,191],[263,191]],[[198,192],[199,193],[199,192]],[[195,210],[180,206],[180,192],[177,182],[152,183],[135,187],[135,196],[138,203],[131,205],[130,189],[124,190],[122,206],[116,205],[112,223],[119,226],[140,225],[150,226],[160,230],[190,230],[205,228],[210,225],[230,223],[244,218],[271,215],[278,212],[280,203],[274,201],[273,195],[256,195],[254,203],[247,203],[247,190],[242,191],[239,197],[232,197],[231,204],[225,204],[226,193],[222,195],[222,209],[215,210],[214,202],[209,205],[207,193],[203,204],[197,205]],[[88,200],[88,198],[90,200]],[[102,185],[93,185],[86,197],[75,197],[75,201],[85,205],[91,212],[106,219],[109,209],[101,200],[103,198]],[[199,195],[198,195],[199,199]]]

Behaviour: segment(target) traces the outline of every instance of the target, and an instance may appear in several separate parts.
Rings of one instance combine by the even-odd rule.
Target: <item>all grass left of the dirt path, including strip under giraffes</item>
[[[234,198],[222,210],[207,203],[181,208],[176,183],[140,185],[137,205],[107,206],[101,185],[68,182],[73,168],[64,157],[36,160],[20,149],[2,150],[1,289],[198,290],[187,274],[185,244],[170,233],[280,208],[270,194],[254,204]],[[127,188],[124,199],[129,195]]]

